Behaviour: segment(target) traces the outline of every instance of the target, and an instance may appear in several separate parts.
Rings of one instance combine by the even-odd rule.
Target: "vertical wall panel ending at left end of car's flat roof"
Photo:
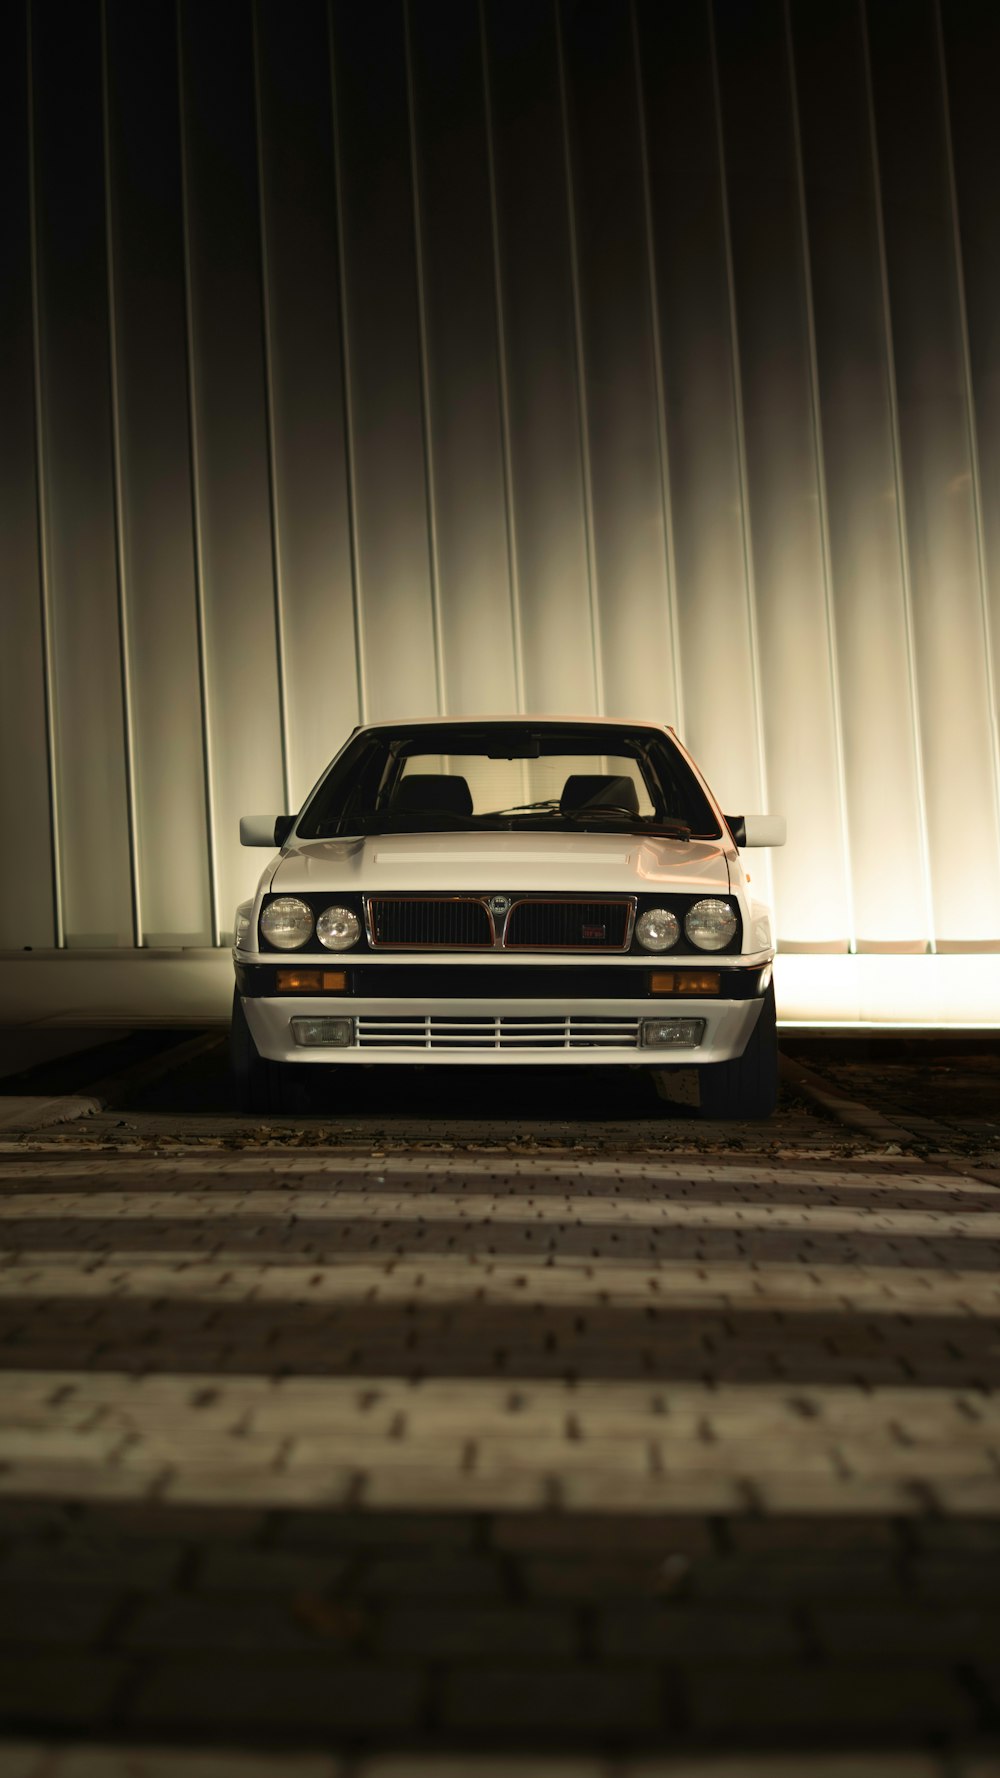
[[[333,7],[370,717],[438,708],[400,0]]]

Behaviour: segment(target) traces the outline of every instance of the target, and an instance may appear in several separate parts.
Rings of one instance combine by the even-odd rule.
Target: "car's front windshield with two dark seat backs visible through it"
[[[721,834],[662,729],[575,722],[361,729],[297,821],[301,839],[466,829]]]

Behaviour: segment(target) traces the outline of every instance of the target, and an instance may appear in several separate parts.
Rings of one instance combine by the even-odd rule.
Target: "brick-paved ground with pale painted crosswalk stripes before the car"
[[[11,1136],[2,1778],[996,1778],[1000,1197],[936,1145]]]

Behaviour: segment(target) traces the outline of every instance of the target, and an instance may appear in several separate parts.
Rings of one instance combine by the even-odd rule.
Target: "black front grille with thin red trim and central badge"
[[[505,905],[505,903],[504,903]],[[626,951],[633,903],[520,898],[504,921],[488,896],[368,896],[372,948]]]

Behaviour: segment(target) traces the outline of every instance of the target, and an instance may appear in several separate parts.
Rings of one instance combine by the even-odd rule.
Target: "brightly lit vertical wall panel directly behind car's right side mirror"
[[[767,782],[790,823],[774,861],[786,942],[849,939],[808,313],[779,0],[717,5],[740,331]],[[760,194],[767,192],[762,210]],[[824,857],[817,873],[815,861]]]

